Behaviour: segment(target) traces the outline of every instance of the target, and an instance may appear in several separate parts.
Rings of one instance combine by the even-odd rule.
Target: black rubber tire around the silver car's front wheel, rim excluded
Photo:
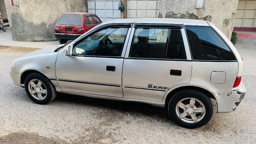
[[[47,94],[46,94],[46,97],[44,100],[37,100],[35,99],[30,93],[29,93],[29,90],[28,90],[28,83],[32,80],[32,79],[38,79],[40,80],[41,82],[43,82],[43,84],[45,85],[45,88],[47,90]],[[33,100],[35,103],[37,104],[47,104],[49,102],[51,102],[52,100],[54,100],[57,96],[57,92],[55,90],[55,87],[54,85],[51,83],[51,81],[46,78],[45,76],[43,75],[40,75],[40,74],[37,74],[37,73],[33,73],[33,74],[30,74],[26,77],[25,79],[25,90],[28,94],[28,97]]]

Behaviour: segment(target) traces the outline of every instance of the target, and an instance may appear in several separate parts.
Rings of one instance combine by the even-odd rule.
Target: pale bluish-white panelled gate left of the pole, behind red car
[[[88,12],[95,13],[101,21],[120,19],[118,4],[119,0],[88,0]]]

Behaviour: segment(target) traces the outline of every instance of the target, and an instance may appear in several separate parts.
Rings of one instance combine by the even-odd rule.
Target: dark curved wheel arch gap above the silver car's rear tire
[[[164,107],[166,107],[169,103],[169,100],[172,98],[172,96],[179,92],[179,91],[182,91],[182,90],[196,90],[196,91],[199,91],[199,92],[203,92],[204,94],[206,94],[209,98],[212,98],[214,100],[216,100],[216,98],[214,97],[214,95],[209,92],[208,90],[202,88],[202,87],[198,87],[198,86],[180,86],[178,88],[175,88],[173,89],[172,91],[170,91],[167,95],[166,95],[166,98],[164,99]]]

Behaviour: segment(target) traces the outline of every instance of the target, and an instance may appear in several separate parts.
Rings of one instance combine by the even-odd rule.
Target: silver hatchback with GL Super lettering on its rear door
[[[243,60],[203,20],[121,19],[101,23],[70,44],[13,61],[14,84],[47,104],[57,92],[165,107],[186,128],[208,123],[213,107],[232,112],[245,96]]]

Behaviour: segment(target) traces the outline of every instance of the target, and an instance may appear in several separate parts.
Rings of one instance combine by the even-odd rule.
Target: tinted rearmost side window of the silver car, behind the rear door
[[[236,60],[220,36],[205,26],[186,26],[193,60]]]

